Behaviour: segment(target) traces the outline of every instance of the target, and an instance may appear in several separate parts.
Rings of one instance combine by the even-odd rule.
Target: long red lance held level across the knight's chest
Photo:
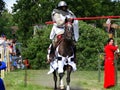
[[[98,20],[98,19],[115,19],[115,18],[120,18],[120,16],[96,16],[96,17],[81,17],[81,18],[71,18],[71,19],[74,19],[74,20]],[[45,24],[53,24],[55,22],[53,21],[48,21],[48,22],[45,22]]]

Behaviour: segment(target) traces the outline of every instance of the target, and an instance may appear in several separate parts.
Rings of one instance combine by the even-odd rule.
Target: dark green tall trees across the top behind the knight
[[[13,7],[14,22],[18,24],[17,37],[25,42],[32,36],[31,27],[51,21],[51,12],[61,0],[17,0]],[[111,0],[65,0],[77,17],[118,15],[119,2]],[[114,11],[113,11],[114,9]],[[87,21],[101,27],[104,21]]]

